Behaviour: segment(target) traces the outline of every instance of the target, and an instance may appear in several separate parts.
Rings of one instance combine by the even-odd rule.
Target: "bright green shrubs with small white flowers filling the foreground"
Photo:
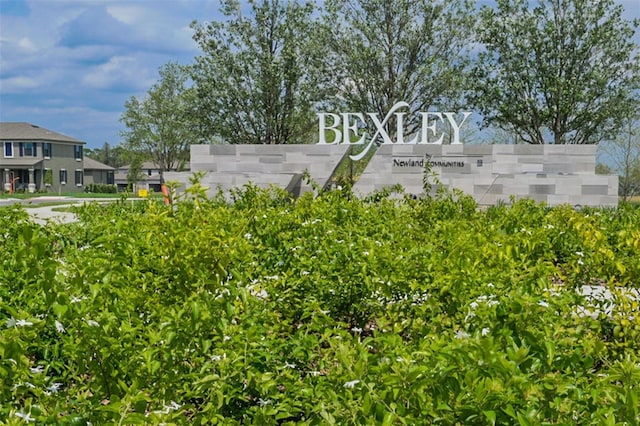
[[[640,209],[194,186],[2,209],[0,421],[640,421]]]

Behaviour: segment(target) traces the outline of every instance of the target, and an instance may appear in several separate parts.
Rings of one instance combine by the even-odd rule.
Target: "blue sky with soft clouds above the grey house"
[[[640,0],[617,1],[640,18]],[[191,63],[200,51],[189,24],[219,19],[218,9],[218,0],[0,0],[0,121],[89,148],[118,144],[125,101],[143,96],[160,66]]]

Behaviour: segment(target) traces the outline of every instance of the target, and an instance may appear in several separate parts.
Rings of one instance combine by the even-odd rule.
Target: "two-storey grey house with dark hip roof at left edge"
[[[84,145],[35,124],[1,122],[1,188],[7,192],[83,191]]]

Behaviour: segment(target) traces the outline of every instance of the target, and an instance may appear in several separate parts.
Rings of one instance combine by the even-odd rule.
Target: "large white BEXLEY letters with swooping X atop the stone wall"
[[[444,139],[444,132],[437,137],[437,122],[439,120],[443,123],[448,123],[451,129],[451,143],[459,144],[460,142],[460,127],[464,124],[465,120],[471,115],[470,112],[462,113],[462,120],[456,121],[456,113],[453,112],[419,112],[421,119],[420,131],[410,140],[405,141],[404,135],[404,122],[406,112],[398,112],[401,109],[409,108],[409,104],[406,102],[398,102],[387,113],[383,120],[376,113],[319,113],[319,141],[318,144],[353,144],[363,145],[367,143],[367,146],[357,155],[352,155],[351,159],[354,161],[362,159],[371,146],[374,143],[378,144],[442,144]],[[391,117],[396,118],[396,141],[394,142],[389,136],[389,133],[385,129],[387,122]],[[329,125],[327,123],[327,117],[330,117],[332,122]],[[368,119],[368,120],[367,120]],[[446,121],[445,121],[446,120]],[[373,124],[375,133],[368,139],[367,132],[364,132],[359,139],[352,142],[351,136],[358,136],[358,129],[362,126],[367,126],[367,121]],[[332,131],[335,135],[333,142],[327,142],[327,131]],[[436,138],[437,137],[437,138]],[[381,139],[382,142],[376,142],[376,139]]]

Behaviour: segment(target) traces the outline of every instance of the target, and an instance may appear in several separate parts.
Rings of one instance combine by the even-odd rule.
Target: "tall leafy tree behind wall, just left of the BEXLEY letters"
[[[223,0],[224,21],[192,23],[203,54],[192,78],[203,136],[228,143],[309,141],[313,106],[324,97],[322,54],[313,38],[314,5]]]

